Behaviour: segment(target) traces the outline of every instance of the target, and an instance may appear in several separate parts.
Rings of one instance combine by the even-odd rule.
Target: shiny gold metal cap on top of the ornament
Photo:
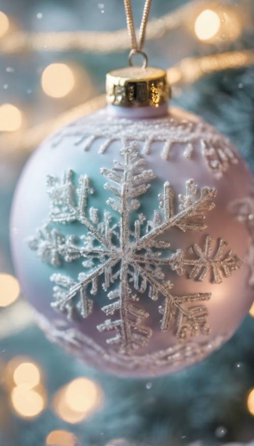
[[[106,75],[107,102],[121,107],[159,107],[169,98],[166,71],[126,67]]]

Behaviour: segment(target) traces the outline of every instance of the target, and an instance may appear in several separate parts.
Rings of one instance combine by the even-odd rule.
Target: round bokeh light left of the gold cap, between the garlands
[[[66,64],[51,64],[42,73],[42,88],[48,96],[64,97],[72,91],[74,84],[73,72]]]

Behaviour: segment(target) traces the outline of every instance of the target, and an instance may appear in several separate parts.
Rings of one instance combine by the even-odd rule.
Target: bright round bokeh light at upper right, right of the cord
[[[195,34],[200,40],[209,40],[218,33],[220,18],[211,9],[202,11],[195,21]]]

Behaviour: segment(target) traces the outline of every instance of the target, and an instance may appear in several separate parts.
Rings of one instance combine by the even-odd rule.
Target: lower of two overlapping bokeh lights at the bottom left
[[[11,400],[14,409],[22,417],[33,417],[39,415],[45,406],[42,395],[34,389],[27,389],[19,385],[11,392]]]

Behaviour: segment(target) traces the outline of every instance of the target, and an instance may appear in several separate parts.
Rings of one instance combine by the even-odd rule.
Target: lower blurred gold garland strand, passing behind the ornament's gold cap
[[[174,67],[167,70],[171,86],[183,86],[196,82],[205,74],[254,64],[254,51],[229,51],[200,58],[182,59]],[[43,122],[27,130],[13,134],[5,134],[1,138],[2,154],[17,155],[21,151],[31,151],[50,133],[63,125],[67,125],[81,116],[88,115],[106,105],[104,94],[96,96],[87,102],[60,114],[56,119]]]

